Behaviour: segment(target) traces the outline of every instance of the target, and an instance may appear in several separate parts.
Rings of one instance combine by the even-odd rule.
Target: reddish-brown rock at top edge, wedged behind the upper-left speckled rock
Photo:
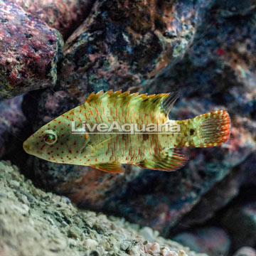
[[[87,17],[95,0],[16,0],[16,3],[68,38]]]

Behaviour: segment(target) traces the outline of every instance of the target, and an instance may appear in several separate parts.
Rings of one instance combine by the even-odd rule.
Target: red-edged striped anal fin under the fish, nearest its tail
[[[159,171],[175,171],[186,164],[188,157],[180,149],[167,149],[163,154],[144,159],[138,166]]]

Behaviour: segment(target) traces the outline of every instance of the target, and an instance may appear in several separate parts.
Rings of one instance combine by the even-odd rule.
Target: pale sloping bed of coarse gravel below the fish
[[[35,188],[9,161],[0,161],[0,191],[1,255],[207,256],[158,235],[149,243],[138,226],[78,210],[65,198]]]

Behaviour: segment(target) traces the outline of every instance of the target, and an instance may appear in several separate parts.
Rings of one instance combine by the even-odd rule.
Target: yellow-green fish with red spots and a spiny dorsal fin
[[[156,95],[92,92],[84,104],[28,137],[23,149],[46,161],[110,173],[123,172],[122,164],[175,171],[188,161],[183,147],[220,146],[230,137],[230,116],[225,110],[169,119],[178,95],[176,91]],[[103,126],[105,131],[100,132]]]

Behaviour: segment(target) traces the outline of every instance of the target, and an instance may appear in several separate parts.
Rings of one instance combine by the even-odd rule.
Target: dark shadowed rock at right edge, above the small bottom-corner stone
[[[254,246],[256,243],[256,201],[230,208],[221,223],[228,230],[233,249]]]

